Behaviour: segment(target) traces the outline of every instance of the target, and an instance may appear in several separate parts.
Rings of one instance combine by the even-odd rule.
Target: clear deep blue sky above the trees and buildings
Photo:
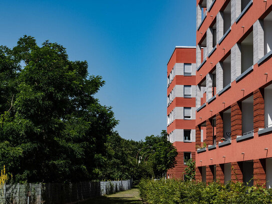
[[[30,35],[87,60],[106,81],[97,97],[116,130],[140,140],[166,129],[166,65],[175,46],[195,46],[195,12],[194,0],[2,1],[0,45]]]

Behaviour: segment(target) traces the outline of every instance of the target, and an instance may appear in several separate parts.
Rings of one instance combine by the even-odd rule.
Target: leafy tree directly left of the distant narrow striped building
[[[167,139],[167,132],[162,130],[160,135],[147,136],[145,138],[146,151],[150,157],[148,162],[152,164],[152,173],[155,177],[161,177],[168,169],[176,164],[177,150]]]

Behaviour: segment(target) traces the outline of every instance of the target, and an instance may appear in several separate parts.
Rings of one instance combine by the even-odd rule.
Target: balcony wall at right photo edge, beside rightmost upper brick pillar
[[[272,85],[264,88],[264,125],[272,124]],[[272,180],[271,180],[272,181]]]

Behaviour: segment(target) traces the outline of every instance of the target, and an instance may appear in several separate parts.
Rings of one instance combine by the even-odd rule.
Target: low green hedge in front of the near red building
[[[272,202],[272,189],[262,186],[246,186],[240,182],[226,185],[218,182],[206,185],[202,182],[175,179],[142,179],[140,196],[149,204],[263,204]]]

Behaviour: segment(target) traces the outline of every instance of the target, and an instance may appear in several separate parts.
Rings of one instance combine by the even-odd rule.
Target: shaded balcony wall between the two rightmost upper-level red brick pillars
[[[253,130],[253,98],[252,102],[242,101],[242,133]]]

